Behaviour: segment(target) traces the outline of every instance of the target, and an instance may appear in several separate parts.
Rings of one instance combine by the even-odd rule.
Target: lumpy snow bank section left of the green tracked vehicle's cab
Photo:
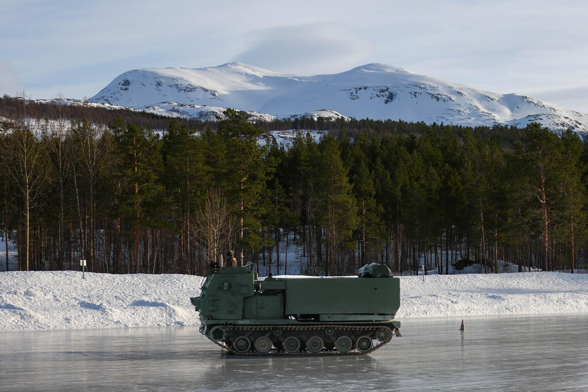
[[[0,331],[198,324],[189,297],[202,277],[0,273]]]

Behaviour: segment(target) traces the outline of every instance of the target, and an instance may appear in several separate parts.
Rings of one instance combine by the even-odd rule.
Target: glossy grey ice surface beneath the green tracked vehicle
[[[370,355],[239,357],[198,327],[0,333],[2,391],[588,390],[588,314],[402,320]]]

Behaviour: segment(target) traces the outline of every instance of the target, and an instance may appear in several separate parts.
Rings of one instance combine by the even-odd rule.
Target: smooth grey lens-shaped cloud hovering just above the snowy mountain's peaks
[[[249,32],[235,56],[260,68],[298,75],[347,71],[369,59],[372,45],[335,24],[305,24]]]

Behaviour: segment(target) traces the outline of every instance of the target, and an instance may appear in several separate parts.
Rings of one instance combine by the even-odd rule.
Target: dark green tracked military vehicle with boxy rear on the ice
[[[400,280],[391,274],[257,280],[249,266],[209,270],[191,298],[201,333],[232,353],[368,354],[400,336],[393,320]],[[363,269],[373,266],[389,272],[379,264]]]

